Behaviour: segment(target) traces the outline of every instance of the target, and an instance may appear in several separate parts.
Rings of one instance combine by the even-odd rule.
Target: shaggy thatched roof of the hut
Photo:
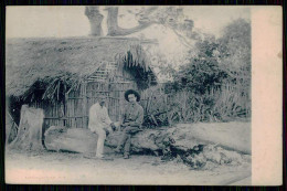
[[[34,87],[71,88],[95,73],[103,61],[124,62],[132,54],[128,66],[141,67],[153,75],[149,59],[137,39],[10,39],[6,44],[6,91],[21,97]],[[155,79],[155,75],[153,75]],[[55,83],[57,82],[57,84]],[[52,92],[55,88],[51,88]],[[50,89],[50,91],[51,91]],[[60,88],[57,89],[60,91]],[[50,97],[52,98],[52,97]]]

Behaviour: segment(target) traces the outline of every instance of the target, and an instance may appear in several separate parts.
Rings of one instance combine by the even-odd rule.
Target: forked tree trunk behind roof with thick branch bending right
[[[118,8],[110,7],[107,9],[108,18],[107,18],[107,28],[108,33],[107,35],[116,36],[116,35],[128,35],[135,32],[141,31],[149,25],[153,24],[155,22],[140,22],[139,25],[130,29],[123,29],[118,26]]]

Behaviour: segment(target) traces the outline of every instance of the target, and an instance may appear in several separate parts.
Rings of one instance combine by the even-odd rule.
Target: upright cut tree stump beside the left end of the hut
[[[29,108],[23,105],[15,139],[9,145],[10,149],[42,150],[42,125],[44,114],[42,109]]]

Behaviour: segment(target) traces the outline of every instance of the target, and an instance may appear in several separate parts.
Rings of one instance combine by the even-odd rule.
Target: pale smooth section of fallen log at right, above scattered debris
[[[180,139],[178,145],[187,146],[195,138],[203,145],[217,145],[224,149],[252,153],[251,123],[178,124],[170,132]]]

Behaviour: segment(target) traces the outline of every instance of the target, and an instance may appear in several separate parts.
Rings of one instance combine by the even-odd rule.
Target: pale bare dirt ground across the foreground
[[[111,149],[105,149],[114,160],[71,152],[7,150],[6,181],[41,184],[251,184],[251,155],[242,155],[238,163],[211,162],[205,170],[194,170],[179,159],[161,161],[159,157],[136,155],[123,159]]]

